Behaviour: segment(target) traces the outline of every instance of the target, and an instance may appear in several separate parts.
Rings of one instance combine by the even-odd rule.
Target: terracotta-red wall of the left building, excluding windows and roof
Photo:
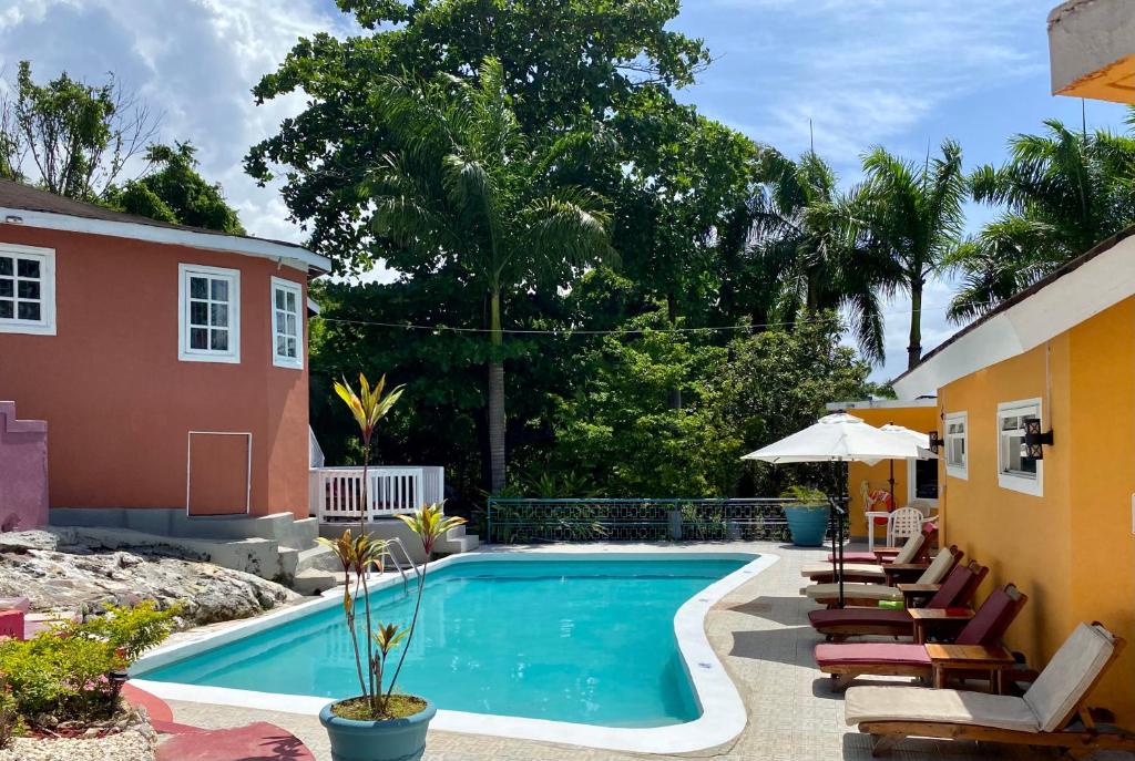
[[[272,364],[270,281],[306,277],[267,259],[127,238],[0,226],[0,243],[56,252],[56,335],[0,332],[0,399],[44,420],[52,507],[186,506],[308,515],[304,369]],[[178,360],[178,265],[241,272],[239,363]],[[251,473],[251,479],[247,475]],[[247,482],[246,482],[247,480]],[[251,487],[251,488],[250,488]]]

